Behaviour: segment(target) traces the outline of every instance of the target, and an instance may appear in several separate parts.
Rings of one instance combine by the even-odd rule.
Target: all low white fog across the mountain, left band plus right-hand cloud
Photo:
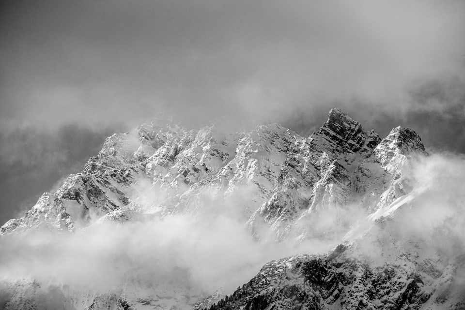
[[[404,173],[413,185],[412,203],[391,213],[394,220],[388,220],[387,226],[372,226],[369,235],[363,236],[367,240],[360,240],[358,251],[375,265],[394,263],[400,249],[417,251],[412,242],[428,245],[418,248],[420,260],[439,253],[447,262],[463,254],[465,157],[434,153],[413,159]],[[142,195],[139,207],[159,204],[160,192],[148,184],[140,184],[137,190]],[[159,298],[208,295],[220,287],[230,294],[266,262],[297,253],[325,253],[342,242],[347,230],[363,224],[356,206],[341,212],[331,209],[319,214],[319,225],[309,227],[313,232],[309,238],[277,243],[266,230],[260,232],[260,240],[252,238],[238,198],[215,200],[207,193],[202,201],[195,212],[164,218],[152,213],[123,223],[98,221],[75,234],[43,230],[2,236],[0,279],[35,279],[46,283],[45,289],[58,287],[57,292],[68,286],[93,294],[121,292],[130,290],[127,283],[133,281],[150,283]],[[341,217],[347,221],[346,231],[340,230]],[[337,226],[336,233],[331,239],[327,234],[321,238],[323,234],[315,229],[327,231],[331,223]]]

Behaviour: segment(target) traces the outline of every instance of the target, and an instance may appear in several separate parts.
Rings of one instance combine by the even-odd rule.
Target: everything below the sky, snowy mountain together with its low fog
[[[309,137],[142,124],[1,226],[0,308],[463,310],[448,167],[337,108]]]

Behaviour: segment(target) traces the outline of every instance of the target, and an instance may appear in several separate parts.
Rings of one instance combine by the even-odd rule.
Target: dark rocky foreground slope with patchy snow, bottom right
[[[296,255],[272,261],[248,283],[206,309],[463,309],[434,295],[434,274],[403,266],[372,268],[340,246],[329,255]],[[455,273],[445,270],[446,277]],[[445,285],[446,289],[450,285]],[[436,288],[437,289],[437,288]],[[457,294],[457,292],[455,292]],[[430,302],[429,302],[430,301]]]

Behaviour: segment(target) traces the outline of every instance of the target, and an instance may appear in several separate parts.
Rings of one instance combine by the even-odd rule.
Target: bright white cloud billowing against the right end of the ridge
[[[362,254],[377,266],[407,262],[414,272],[431,262],[439,269],[448,264],[461,266],[465,157],[436,152],[418,157],[406,169],[413,200],[385,214],[374,226],[370,221],[366,227],[371,230],[355,242],[355,255]],[[458,277],[463,277],[460,267]]]

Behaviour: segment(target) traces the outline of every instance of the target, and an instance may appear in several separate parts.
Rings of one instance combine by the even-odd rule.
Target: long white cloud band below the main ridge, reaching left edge
[[[157,295],[173,287],[197,295],[221,286],[231,291],[271,259],[328,250],[323,242],[256,242],[224,212],[104,222],[73,235],[3,236],[0,244],[1,279],[31,278],[93,294],[118,292],[128,281],[150,283]]]

